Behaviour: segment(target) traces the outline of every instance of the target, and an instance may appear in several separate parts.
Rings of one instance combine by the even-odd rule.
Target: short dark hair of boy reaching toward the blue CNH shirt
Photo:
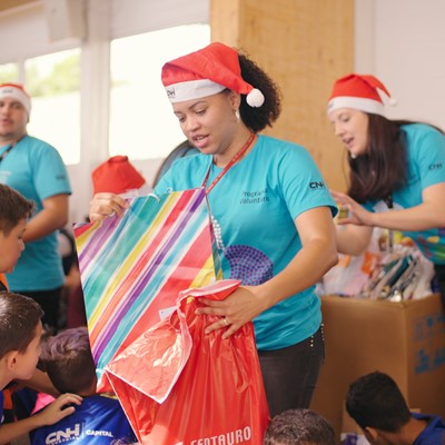
[[[23,354],[42,316],[43,310],[32,298],[0,293],[0,358],[11,350]]]

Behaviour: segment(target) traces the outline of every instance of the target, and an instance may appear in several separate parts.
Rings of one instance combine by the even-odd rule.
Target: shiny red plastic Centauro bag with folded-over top
[[[181,291],[176,312],[106,367],[142,444],[263,444],[269,415],[253,324],[222,339],[225,329],[204,334],[217,316],[195,315],[200,297],[221,300],[238,286]]]

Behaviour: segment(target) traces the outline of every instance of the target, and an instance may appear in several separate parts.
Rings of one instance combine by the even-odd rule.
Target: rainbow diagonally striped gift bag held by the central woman
[[[221,278],[204,188],[129,200],[121,218],[75,225],[76,247],[97,365],[175,309],[179,291]]]

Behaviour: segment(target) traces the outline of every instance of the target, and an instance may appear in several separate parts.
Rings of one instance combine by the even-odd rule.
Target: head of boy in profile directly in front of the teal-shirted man
[[[0,184],[0,273],[13,270],[23,248],[23,233],[33,202]]]

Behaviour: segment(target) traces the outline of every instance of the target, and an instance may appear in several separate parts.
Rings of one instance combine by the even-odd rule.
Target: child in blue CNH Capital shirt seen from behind
[[[48,444],[56,437],[77,445],[108,445],[118,438],[137,441],[119,400],[96,393],[96,367],[86,327],[49,337],[41,358],[56,388],[79,394],[83,400],[72,416],[33,431],[32,445]]]

